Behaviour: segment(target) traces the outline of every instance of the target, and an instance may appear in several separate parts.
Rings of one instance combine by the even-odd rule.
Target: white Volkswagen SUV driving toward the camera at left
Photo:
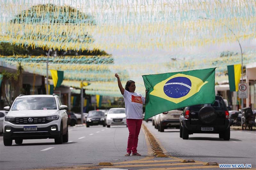
[[[68,115],[57,95],[20,95],[4,118],[4,145],[12,140],[22,144],[23,139],[54,139],[55,144],[68,142]]]

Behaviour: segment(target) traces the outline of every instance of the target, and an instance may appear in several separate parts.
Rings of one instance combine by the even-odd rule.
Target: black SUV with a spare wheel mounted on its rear
[[[228,108],[221,96],[214,104],[185,107],[180,115],[180,137],[188,139],[193,133],[218,133],[224,140],[230,139]]]

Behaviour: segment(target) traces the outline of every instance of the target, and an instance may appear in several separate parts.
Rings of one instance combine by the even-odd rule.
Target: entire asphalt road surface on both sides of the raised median
[[[255,131],[232,130],[230,141],[219,139],[217,134],[193,134],[188,140],[183,140],[179,137],[179,129],[158,132],[151,122],[144,124],[171,157],[150,156],[150,147],[145,139],[147,136],[142,129],[138,144],[138,152],[142,156],[125,157],[128,138],[126,126],[78,126],[69,127],[69,142],[66,144],[56,145],[53,139],[37,139],[24,140],[20,145],[13,141],[12,146],[4,146],[1,136],[0,169],[63,169],[71,166],[73,169],[79,166],[83,166],[82,169],[102,169],[97,166],[100,162],[112,162],[112,167],[116,169],[190,169],[192,166],[193,169],[219,169],[219,166],[202,166],[200,161],[252,164],[252,167],[256,167]],[[180,163],[181,159],[194,159],[196,162]]]

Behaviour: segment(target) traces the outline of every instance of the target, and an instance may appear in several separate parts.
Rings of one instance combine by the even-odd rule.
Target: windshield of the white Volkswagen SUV
[[[28,97],[16,99],[12,110],[57,109],[54,97]]]

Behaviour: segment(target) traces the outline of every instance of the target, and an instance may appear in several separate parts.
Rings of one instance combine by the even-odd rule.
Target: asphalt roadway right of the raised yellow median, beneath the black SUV
[[[183,140],[180,129],[158,132],[152,122],[148,122],[147,128],[173,157],[256,167],[256,131],[231,129],[229,141],[220,139],[218,134],[193,134],[188,140]]]

